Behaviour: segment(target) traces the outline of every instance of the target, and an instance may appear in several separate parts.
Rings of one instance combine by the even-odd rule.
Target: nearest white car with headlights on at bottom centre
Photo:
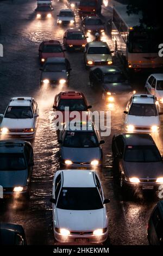
[[[104,242],[108,217],[98,175],[92,170],[59,170],[53,180],[53,229],[59,242]]]

